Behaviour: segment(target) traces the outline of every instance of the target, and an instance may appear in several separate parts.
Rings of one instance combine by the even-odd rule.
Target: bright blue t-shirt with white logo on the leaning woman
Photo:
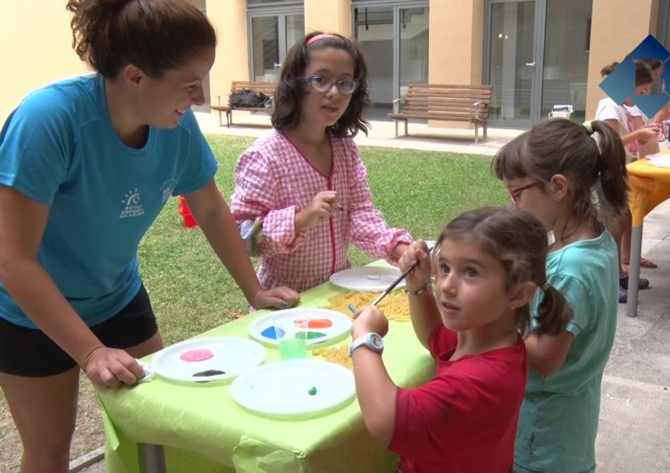
[[[137,295],[138,244],[170,195],[215,172],[190,111],[174,129],[150,127],[142,148],[123,144],[96,74],[33,92],[0,132],[0,184],[50,207],[38,261],[88,326]],[[37,327],[1,284],[0,317]]]

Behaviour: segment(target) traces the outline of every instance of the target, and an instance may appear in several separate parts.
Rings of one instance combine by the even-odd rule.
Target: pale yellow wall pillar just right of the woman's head
[[[216,61],[209,72],[212,104],[217,103],[219,95],[222,104],[227,104],[230,83],[249,80],[247,1],[209,0],[207,16],[214,23],[218,41]]]

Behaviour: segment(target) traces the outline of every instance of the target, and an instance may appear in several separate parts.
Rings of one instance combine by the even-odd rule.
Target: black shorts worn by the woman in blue
[[[91,327],[111,348],[130,348],[146,342],[158,331],[154,311],[144,286],[128,305]],[[41,378],[74,368],[77,362],[41,330],[25,328],[0,318],[0,372]]]

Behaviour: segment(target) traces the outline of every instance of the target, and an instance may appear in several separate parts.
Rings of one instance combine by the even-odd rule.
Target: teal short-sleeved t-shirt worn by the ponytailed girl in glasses
[[[549,253],[547,275],[574,310],[565,362],[549,377],[529,369],[515,443],[515,471],[596,468],[600,382],[614,343],[618,304],[616,244],[609,232]],[[531,313],[537,311],[541,291]]]

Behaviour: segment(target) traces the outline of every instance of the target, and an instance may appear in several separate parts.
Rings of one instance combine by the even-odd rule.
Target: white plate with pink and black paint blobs
[[[185,361],[185,353],[209,351],[213,356],[203,361]],[[155,353],[150,367],[155,374],[175,381],[207,382],[231,379],[261,364],[265,358],[263,345],[236,337],[196,338],[172,344]],[[211,376],[195,376],[210,370],[223,371]]]

